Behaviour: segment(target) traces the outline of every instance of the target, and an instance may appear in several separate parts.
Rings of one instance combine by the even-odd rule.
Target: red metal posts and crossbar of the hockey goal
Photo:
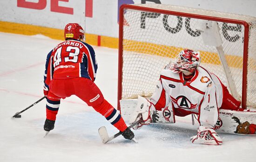
[[[118,94],[117,94],[117,109],[120,111],[120,102],[122,95],[122,53],[123,53],[123,24],[124,24],[124,10],[133,9],[143,12],[157,12],[162,14],[171,14],[175,16],[184,16],[195,19],[205,19],[212,21],[221,21],[225,23],[240,24],[244,26],[244,44],[243,44],[243,81],[242,81],[242,108],[246,109],[247,101],[247,63],[248,63],[248,46],[249,46],[249,24],[243,20],[218,18],[212,16],[205,16],[199,14],[191,14],[185,12],[167,11],[162,9],[149,8],[144,6],[135,6],[124,4],[120,7],[119,12],[119,51],[118,51]]]

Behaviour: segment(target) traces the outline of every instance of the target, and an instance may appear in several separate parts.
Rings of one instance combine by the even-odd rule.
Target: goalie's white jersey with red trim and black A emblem
[[[222,105],[222,98],[222,85],[218,77],[198,67],[191,81],[185,81],[182,73],[163,69],[150,102],[156,110],[171,103],[174,111],[198,114],[200,125],[214,127],[219,117],[218,109]]]

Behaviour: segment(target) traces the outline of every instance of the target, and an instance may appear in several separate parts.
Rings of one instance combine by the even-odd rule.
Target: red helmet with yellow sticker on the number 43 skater
[[[66,25],[64,30],[65,40],[68,38],[77,39],[81,41],[85,41],[84,30],[77,23],[69,23]]]

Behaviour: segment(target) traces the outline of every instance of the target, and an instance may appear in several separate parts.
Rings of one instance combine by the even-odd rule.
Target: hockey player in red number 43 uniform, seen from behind
[[[101,113],[126,139],[134,133],[127,127],[119,112],[104,99],[95,85],[97,62],[94,49],[85,43],[84,30],[79,24],[67,24],[64,42],[47,55],[44,75],[44,94],[47,97],[45,131],[54,129],[61,99],[76,95]]]

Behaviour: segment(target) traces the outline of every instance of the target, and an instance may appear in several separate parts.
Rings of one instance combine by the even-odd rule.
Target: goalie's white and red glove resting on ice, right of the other
[[[197,135],[192,136],[190,141],[197,144],[221,145],[222,139],[213,128],[199,126]]]

